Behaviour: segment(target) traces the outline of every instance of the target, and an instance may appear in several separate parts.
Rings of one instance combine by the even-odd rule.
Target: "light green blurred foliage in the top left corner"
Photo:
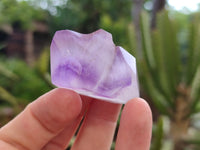
[[[27,29],[32,28],[34,20],[45,20],[46,13],[42,9],[34,8],[28,1],[1,0],[0,1],[0,25],[20,22]]]

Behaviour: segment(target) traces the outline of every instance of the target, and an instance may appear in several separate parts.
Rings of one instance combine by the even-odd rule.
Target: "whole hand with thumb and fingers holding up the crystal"
[[[119,104],[54,89],[0,129],[0,149],[64,150],[85,116],[72,150],[109,150],[120,109]],[[115,149],[148,150],[151,128],[148,104],[130,100],[122,111]]]

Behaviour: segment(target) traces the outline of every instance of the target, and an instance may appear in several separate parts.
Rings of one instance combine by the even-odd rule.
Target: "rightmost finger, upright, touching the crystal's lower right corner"
[[[134,98],[125,104],[122,111],[116,150],[147,150],[150,147],[152,113],[148,103]]]

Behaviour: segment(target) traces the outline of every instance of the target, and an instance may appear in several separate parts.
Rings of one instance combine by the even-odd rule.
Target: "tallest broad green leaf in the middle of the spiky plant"
[[[158,15],[158,31],[162,44],[162,59],[169,82],[171,93],[174,95],[180,82],[180,51],[178,49],[177,34],[173,22],[169,19],[167,11]]]

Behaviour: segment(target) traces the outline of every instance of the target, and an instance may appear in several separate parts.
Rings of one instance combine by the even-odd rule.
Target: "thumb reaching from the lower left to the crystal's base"
[[[0,129],[0,149],[41,149],[77,118],[81,106],[80,96],[73,91],[58,88],[48,92]]]

